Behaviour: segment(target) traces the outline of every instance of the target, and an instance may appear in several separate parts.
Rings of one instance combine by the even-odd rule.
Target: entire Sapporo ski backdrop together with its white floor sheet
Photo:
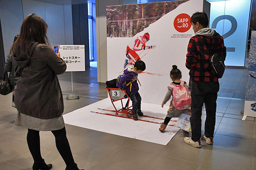
[[[117,78],[126,67],[132,65],[125,63],[128,57],[131,63],[135,58],[142,59],[146,63],[146,70],[138,78],[142,84],[139,92],[142,96],[141,109],[144,115],[162,119],[166,117],[168,104],[163,108],[159,104],[162,103],[167,86],[171,82],[169,74],[173,64],[182,71],[182,80],[189,81],[185,62],[188,41],[194,35],[190,16],[196,11],[203,11],[203,6],[210,9],[210,4],[203,0],[107,7],[108,80]],[[144,50],[144,47],[150,48]],[[115,102],[115,106],[117,109],[123,107],[120,101]],[[65,123],[70,125],[161,145],[167,145],[180,130],[175,127],[176,122],[171,121],[172,126],[168,126],[163,134],[158,130],[162,119],[139,117],[151,123],[134,121],[110,116],[115,113],[110,111],[111,109],[114,107],[110,98],[106,98],[63,117]]]

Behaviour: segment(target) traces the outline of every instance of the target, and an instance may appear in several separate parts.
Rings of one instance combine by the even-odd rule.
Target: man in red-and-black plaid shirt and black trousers
[[[207,28],[206,13],[196,12],[190,21],[195,33],[188,43],[186,55],[186,67],[190,70],[189,75],[192,80],[192,116],[190,117],[192,137],[185,137],[184,142],[200,148],[202,106],[205,103],[206,121],[202,139],[210,145],[213,143],[216,100],[220,88],[218,77],[210,66],[210,54],[222,53],[226,57],[226,47],[222,36],[213,29]]]

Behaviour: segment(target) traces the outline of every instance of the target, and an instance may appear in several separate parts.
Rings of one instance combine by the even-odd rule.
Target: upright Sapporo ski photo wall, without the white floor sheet
[[[138,76],[142,102],[161,104],[171,82],[172,65],[177,65],[182,80],[189,82],[185,63],[188,42],[194,36],[190,17],[195,12],[209,10],[210,4],[205,0],[108,6],[108,80],[117,78],[131,66],[125,64],[127,49],[138,47],[135,52],[146,63],[146,70]],[[145,33],[149,35],[145,45],[153,49],[139,50]]]

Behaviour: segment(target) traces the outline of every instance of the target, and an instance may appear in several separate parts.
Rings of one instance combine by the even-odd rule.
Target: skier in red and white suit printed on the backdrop
[[[137,60],[140,60],[140,56],[136,53],[137,51],[154,49],[155,45],[146,46],[146,42],[150,39],[149,33],[144,33],[144,35],[139,36],[135,39],[135,41],[131,45],[127,45],[126,47],[126,57],[124,68],[128,64],[134,65]]]

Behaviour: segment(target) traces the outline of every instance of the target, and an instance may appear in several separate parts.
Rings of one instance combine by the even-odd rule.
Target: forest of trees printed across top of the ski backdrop
[[[107,6],[107,37],[133,37],[187,1]]]

